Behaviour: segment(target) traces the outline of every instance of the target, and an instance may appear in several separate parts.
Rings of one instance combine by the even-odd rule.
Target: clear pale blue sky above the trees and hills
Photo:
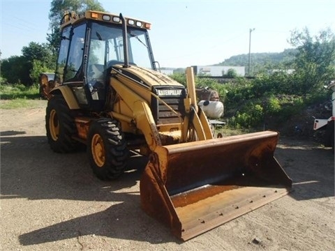
[[[334,0],[99,2],[110,13],[151,22],[151,45],[162,67],[211,65],[247,54],[253,28],[251,52],[283,52],[294,29],[335,33]],[[31,41],[46,42],[50,6],[51,0],[0,0],[1,59],[19,56]]]

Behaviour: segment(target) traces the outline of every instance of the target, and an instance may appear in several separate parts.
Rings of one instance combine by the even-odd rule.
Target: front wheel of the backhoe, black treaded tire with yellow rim
[[[117,121],[107,118],[93,121],[87,140],[89,162],[98,178],[112,180],[124,173],[129,151]]]

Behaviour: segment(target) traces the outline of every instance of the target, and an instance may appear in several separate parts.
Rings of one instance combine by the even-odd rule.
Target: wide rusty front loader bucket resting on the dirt
[[[158,146],[140,181],[142,208],[184,241],[292,188],[274,158],[277,132]]]

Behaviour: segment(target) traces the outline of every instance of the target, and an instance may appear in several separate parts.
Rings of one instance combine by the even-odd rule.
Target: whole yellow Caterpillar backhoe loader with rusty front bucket
[[[93,172],[119,177],[129,151],[149,156],[143,210],[188,240],[286,195],[292,181],[274,158],[278,133],[214,139],[187,88],[156,70],[151,24],[110,13],[67,13],[48,99],[47,139],[59,153],[87,145]]]

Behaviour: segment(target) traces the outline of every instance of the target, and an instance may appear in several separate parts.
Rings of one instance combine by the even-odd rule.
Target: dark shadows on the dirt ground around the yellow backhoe
[[[19,237],[22,245],[93,234],[150,243],[179,242],[170,234],[170,229],[141,210],[138,190],[117,192],[137,185],[147,158],[131,158],[128,172],[117,181],[100,181],[91,172],[85,152],[53,153],[46,137],[18,136],[21,134],[1,133],[1,199],[119,202],[98,213],[22,234]],[[293,142],[278,146],[276,158],[294,183],[290,196],[297,200],[334,197],[331,151],[313,146],[297,147]]]

